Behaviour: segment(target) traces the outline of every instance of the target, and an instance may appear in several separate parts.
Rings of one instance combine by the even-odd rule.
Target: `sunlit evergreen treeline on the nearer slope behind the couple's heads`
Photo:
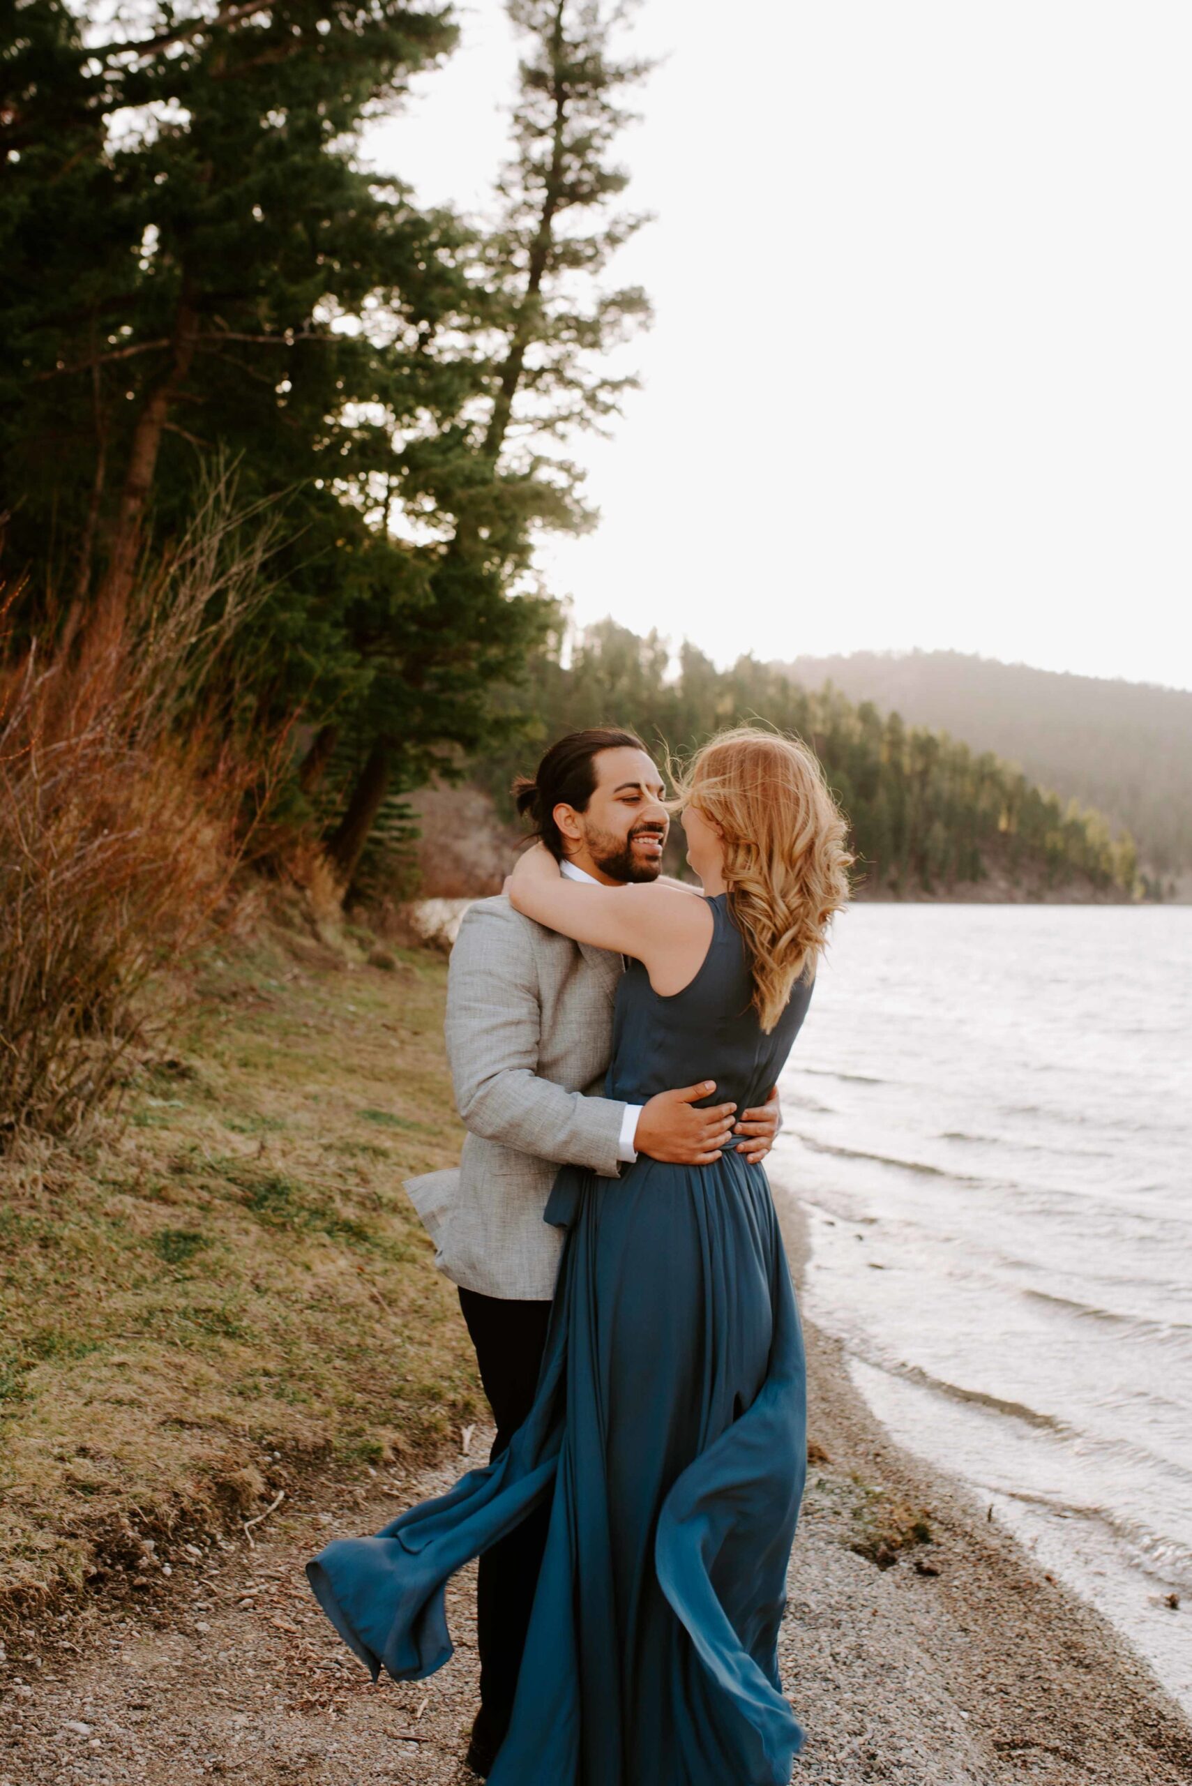
[[[489,755],[476,779],[503,798],[535,748],[573,727],[628,723],[651,747],[682,754],[721,725],[764,720],[807,739],[824,763],[869,891],[944,893],[994,870],[1031,891],[1135,889],[1130,838],[1113,839],[1099,813],[1040,791],[992,752],[883,716],[873,702],[799,688],[753,657],[717,670],[683,645],[676,679],[667,664],[657,632],[639,638],[614,622],[584,632],[566,668],[541,655],[528,677],[537,739]]]

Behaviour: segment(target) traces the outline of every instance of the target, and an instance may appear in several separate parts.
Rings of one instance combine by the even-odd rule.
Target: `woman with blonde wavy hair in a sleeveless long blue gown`
[[[608,1095],[712,1070],[758,1104],[846,900],[844,825],[801,745],[739,729],[680,789],[703,895],[564,879],[539,845],[510,900],[630,957]],[[803,1732],[776,1663],[807,1459],[799,1318],[760,1166],[564,1166],[567,1231],[537,1397],[509,1448],[310,1584],[373,1677],[451,1654],[446,1579],[551,1495],[509,1734],[491,1786],[785,1786]]]

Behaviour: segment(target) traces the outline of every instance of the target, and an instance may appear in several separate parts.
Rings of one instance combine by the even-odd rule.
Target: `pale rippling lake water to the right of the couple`
[[[782,1095],[808,1316],[1192,1711],[1192,907],[858,906]]]

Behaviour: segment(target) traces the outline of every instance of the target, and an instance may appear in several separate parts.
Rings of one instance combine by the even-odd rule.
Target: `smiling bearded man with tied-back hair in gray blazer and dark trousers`
[[[662,798],[641,739],[603,727],[560,738],[517,789],[562,872],[605,886],[658,879]],[[696,1107],[716,1089],[708,1081],[642,1107],[601,1097],[621,972],[619,956],[542,929],[503,895],[469,907],[451,954],[446,1045],[468,1136],[457,1172],[407,1189],[435,1264],[459,1286],[496,1418],[493,1457],[534,1402],[562,1248],[542,1220],[559,1164],[616,1179],[639,1152],[707,1164],[733,1138],[762,1159],[778,1127],[776,1093],[739,1120],[732,1104]],[[480,1715],[468,1752],[480,1775],[509,1725],[548,1520],[539,1507],[480,1557]]]

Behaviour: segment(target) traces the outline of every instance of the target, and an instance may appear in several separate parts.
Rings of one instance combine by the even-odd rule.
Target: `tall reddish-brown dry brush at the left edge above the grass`
[[[148,979],[227,906],[269,766],[212,680],[266,550],[216,477],[120,632],[18,650],[0,609],[0,1143],[103,1104]]]

